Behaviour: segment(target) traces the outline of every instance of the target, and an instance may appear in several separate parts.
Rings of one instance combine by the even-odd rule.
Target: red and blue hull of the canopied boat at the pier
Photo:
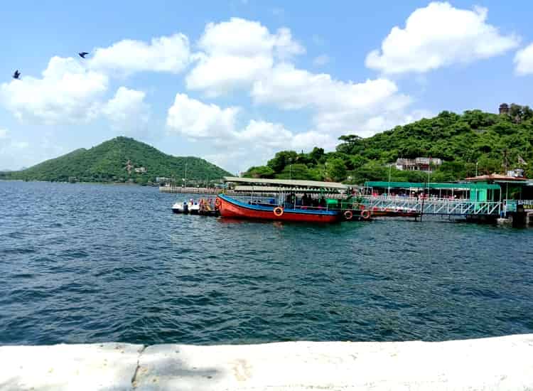
[[[327,208],[296,207],[285,208],[281,205],[264,203],[245,203],[241,200],[219,194],[217,208],[222,217],[245,218],[253,220],[298,221],[306,223],[334,223],[342,217],[339,210]]]

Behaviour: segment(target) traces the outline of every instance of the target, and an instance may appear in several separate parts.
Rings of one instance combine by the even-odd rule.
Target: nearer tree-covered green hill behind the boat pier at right
[[[511,105],[510,114],[501,115],[441,112],[367,139],[347,135],[340,141],[335,152],[324,153],[319,146],[308,154],[281,151],[266,166],[249,168],[244,175],[363,183],[387,180],[389,164],[398,158],[433,157],[444,162],[431,181],[474,176],[476,162],[478,173],[500,173],[505,159],[508,168],[524,168],[533,177],[533,110],[527,106]],[[421,171],[391,170],[392,181],[427,178]]]

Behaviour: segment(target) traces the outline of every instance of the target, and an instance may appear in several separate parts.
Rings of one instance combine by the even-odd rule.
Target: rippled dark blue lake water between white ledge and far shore
[[[0,344],[533,332],[533,230],[173,215],[157,188],[0,181]]]

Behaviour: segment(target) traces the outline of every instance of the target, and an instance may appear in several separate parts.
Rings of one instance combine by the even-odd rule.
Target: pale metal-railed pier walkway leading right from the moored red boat
[[[406,208],[423,215],[484,215],[498,216],[502,203],[449,198],[387,197],[366,195],[362,202],[366,208]]]

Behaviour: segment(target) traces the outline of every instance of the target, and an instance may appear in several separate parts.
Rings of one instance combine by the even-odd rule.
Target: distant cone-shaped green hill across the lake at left
[[[129,172],[127,169],[129,161]],[[127,137],[117,137],[91,149],[76,149],[56,159],[44,161],[22,171],[0,173],[0,178],[26,181],[87,181],[146,183],[163,176],[185,176],[203,183],[231,175],[222,168],[196,157],[176,157],[158,151],[153,146]],[[135,168],[146,168],[136,172]],[[139,170],[137,170],[139,171]]]

